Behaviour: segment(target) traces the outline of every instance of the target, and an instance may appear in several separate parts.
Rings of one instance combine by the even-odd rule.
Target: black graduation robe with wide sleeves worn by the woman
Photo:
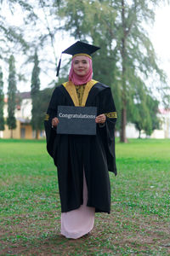
[[[61,84],[54,89],[45,120],[48,154],[58,169],[61,212],[77,209],[83,203],[83,170],[88,186],[88,207],[95,212],[111,211],[109,172],[116,175],[115,123],[116,108],[111,88],[94,84],[89,91],[86,107],[97,107],[105,113],[105,125],[97,125],[96,136],[59,135],[51,126],[58,106],[74,106],[71,96]]]

